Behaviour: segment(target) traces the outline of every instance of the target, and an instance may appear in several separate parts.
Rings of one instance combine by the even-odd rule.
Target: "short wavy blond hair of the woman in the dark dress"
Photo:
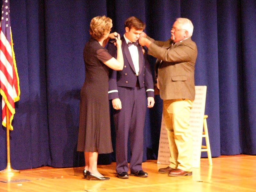
[[[92,18],[90,23],[90,35],[96,40],[100,40],[112,28],[112,20],[109,17],[97,16]]]

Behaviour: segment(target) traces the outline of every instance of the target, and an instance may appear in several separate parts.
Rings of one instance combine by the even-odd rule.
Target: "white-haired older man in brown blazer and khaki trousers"
[[[170,162],[158,170],[168,176],[192,175],[192,132],[189,126],[190,110],[195,100],[196,43],[191,40],[193,24],[178,18],[167,41],[155,41],[145,33],[140,45],[148,47],[148,54],[157,58],[156,76],[163,99],[164,123],[170,147]],[[146,37],[146,38],[145,38]]]

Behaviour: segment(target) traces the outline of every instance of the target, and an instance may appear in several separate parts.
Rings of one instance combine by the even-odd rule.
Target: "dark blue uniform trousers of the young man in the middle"
[[[122,109],[115,110],[116,128],[116,172],[128,172],[127,145],[128,136],[131,144],[130,169],[133,172],[142,170],[143,129],[146,113],[145,88],[118,87],[118,96]]]

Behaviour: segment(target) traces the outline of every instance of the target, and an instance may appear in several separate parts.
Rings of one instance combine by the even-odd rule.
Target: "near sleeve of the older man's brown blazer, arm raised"
[[[188,62],[195,53],[196,44],[192,41],[182,42],[169,50],[161,48],[154,43],[151,43],[148,48],[149,55],[166,62]]]

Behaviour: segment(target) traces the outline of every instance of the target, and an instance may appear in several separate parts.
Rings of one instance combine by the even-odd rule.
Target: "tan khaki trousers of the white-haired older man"
[[[173,169],[192,170],[192,132],[189,126],[192,102],[188,99],[163,101],[163,116],[171,152]]]

